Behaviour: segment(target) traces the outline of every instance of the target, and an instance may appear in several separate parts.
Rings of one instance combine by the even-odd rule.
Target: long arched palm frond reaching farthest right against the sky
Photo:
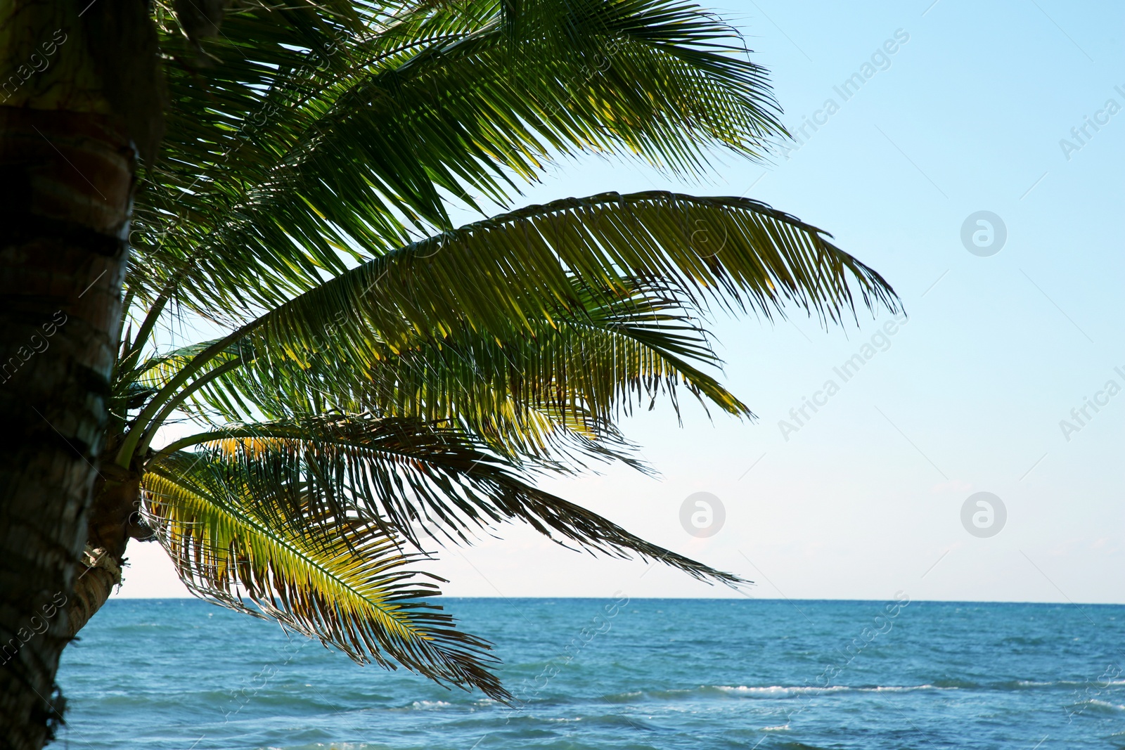
[[[709,237],[711,254],[698,247]],[[694,240],[693,240],[694,237]],[[714,249],[718,247],[718,252]],[[799,219],[746,198],[668,192],[604,193],[532,206],[402,247],[352,269],[246,324],[261,351],[315,347],[316,324],[335,320],[336,354],[372,367],[379,340],[398,350],[466,327],[513,326],[582,315],[576,289],[611,304],[626,278],[650,280],[688,307],[718,305],[770,317],[785,302],[836,320],[855,307],[897,308],[875,271]],[[261,355],[261,353],[259,354]]]

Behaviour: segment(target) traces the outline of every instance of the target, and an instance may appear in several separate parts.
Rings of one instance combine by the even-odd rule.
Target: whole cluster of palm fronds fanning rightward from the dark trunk
[[[534,478],[639,467],[615,424],[662,395],[749,416],[709,374],[711,309],[837,320],[856,292],[897,301],[822,232],[745,198],[510,210],[559,155],[701,173],[714,147],[755,157],[783,134],[765,72],[698,7],[351,10],[240,8],[200,40],[158,7],[171,105],[138,183],[69,625],[120,580],[128,541],[154,537],[201,596],[503,698],[486,644],[422,598],[421,551],[520,519],[736,582]],[[486,202],[504,213],[453,227],[448,206]],[[158,351],[184,315],[216,335]],[[198,432],[160,444],[184,415]]]

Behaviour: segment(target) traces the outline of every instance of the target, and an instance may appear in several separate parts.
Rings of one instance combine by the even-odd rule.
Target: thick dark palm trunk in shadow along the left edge
[[[79,4],[0,9],[0,749],[38,750],[62,719],[119,335],[135,148]]]

